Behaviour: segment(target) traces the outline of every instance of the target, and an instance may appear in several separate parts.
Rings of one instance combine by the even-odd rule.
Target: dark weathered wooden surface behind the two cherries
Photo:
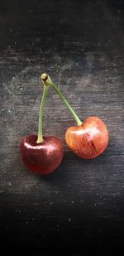
[[[52,175],[26,171],[20,139],[37,132],[41,73],[48,72],[79,117],[97,115],[106,152],[81,160],[66,147],[74,124],[52,89],[44,134],[60,137]],[[124,239],[124,2],[0,2],[0,232],[17,251],[120,249]]]

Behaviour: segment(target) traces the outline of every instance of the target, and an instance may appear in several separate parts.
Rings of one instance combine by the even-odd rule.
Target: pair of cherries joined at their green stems
[[[64,151],[60,139],[42,135],[43,109],[50,86],[60,95],[77,123],[77,126],[69,127],[65,133],[65,142],[69,149],[83,159],[98,157],[106,149],[108,143],[107,128],[103,121],[92,116],[82,123],[64,95],[61,94],[60,89],[50,80],[50,76],[42,74],[41,80],[44,89],[39,114],[38,136],[31,134],[22,138],[20,143],[21,159],[24,165],[33,172],[45,175],[55,171],[63,158]]]

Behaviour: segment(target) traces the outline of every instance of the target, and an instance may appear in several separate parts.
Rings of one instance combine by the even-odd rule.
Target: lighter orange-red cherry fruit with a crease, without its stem
[[[98,157],[107,147],[107,128],[101,119],[89,117],[81,125],[68,128],[65,141],[75,155],[92,159]]]

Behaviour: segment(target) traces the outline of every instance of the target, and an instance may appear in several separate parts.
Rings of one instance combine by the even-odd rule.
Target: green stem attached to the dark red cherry
[[[47,95],[48,89],[49,89],[49,86],[44,85],[43,96],[42,96],[42,99],[41,99],[40,113],[39,113],[37,143],[41,143],[41,142],[44,141],[44,139],[43,139],[43,109],[44,109],[44,106],[45,106],[46,95]]]

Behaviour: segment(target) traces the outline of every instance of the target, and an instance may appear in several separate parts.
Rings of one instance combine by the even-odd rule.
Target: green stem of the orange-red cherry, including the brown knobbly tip
[[[43,81],[44,85],[50,85],[51,87],[53,87],[53,89],[55,89],[55,92],[57,94],[59,94],[60,99],[62,99],[64,101],[65,106],[69,109],[69,112],[74,117],[74,119],[75,119],[76,123],[78,124],[78,126],[81,125],[82,122],[79,119],[78,115],[74,112],[74,109],[72,109],[72,107],[69,105],[67,99],[64,98],[64,95],[60,92],[60,89],[58,88],[58,86],[55,85],[55,83],[53,83],[52,80],[50,80],[50,76],[46,75],[46,74],[42,74],[41,75],[41,80]]]

